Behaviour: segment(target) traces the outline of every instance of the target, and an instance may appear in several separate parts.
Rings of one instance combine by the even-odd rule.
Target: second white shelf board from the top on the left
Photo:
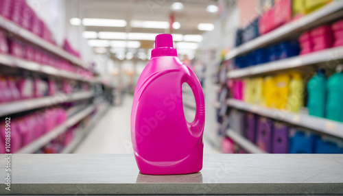
[[[95,79],[89,79],[84,75],[78,73],[72,73],[70,71],[64,71],[56,69],[52,66],[38,64],[36,62],[31,62],[28,60],[23,60],[21,58],[16,58],[14,56],[0,54],[0,64],[11,67],[19,67],[21,69],[26,69],[29,71],[36,71],[39,73],[45,73],[47,75],[54,75],[57,77],[64,77],[67,79],[76,79],[84,82],[97,82]]]

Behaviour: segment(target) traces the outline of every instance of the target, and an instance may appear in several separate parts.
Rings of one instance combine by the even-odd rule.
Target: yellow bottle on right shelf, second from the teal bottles
[[[275,90],[275,108],[285,109],[287,106],[287,99],[289,95],[289,80],[290,77],[287,73],[279,74],[274,77],[276,90]]]

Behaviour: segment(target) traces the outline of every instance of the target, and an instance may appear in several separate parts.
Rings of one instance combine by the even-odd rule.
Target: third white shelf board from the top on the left
[[[91,92],[80,92],[72,94],[60,93],[55,96],[42,97],[36,99],[26,99],[21,101],[12,101],[10,103],[0,104],[0,117],[8,114],[14,114],[16,112],[23,112],[26,110],[33,110],[36,108],[42,108],[45,106],[54,106],[59,103],[64,103],[68,101],[77,101],[80,99],[88,99],[93,97],[95,94]]]

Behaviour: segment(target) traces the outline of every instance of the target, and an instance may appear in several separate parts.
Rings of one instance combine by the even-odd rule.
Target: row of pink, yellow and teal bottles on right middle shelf
[[[237,79],[230,83],[230,90],[235,99],[290,112],[299,112],[307,103],[309,115],[343,122],[342,69],[338,66],[328,79],[322,69],[318,70],[307,82],[307,91],[303,73],[296,71]]]

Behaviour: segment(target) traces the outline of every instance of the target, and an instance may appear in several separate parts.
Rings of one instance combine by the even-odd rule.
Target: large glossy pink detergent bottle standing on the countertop
[[[202,169],[204,94],[196,75],[182,63],[171,34],[156,36],[150,62],[139,77],[131,112],[131,138],[143,174],[173,175]],[[182,84],[196,99],[189,123],[182,106]]]

